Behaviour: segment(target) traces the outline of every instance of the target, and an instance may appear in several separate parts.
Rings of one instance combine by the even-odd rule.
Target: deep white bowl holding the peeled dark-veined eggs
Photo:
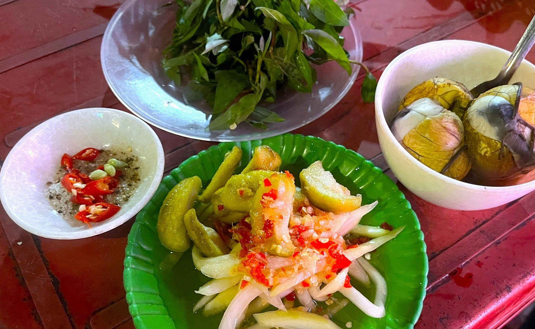
[[[500,206],[535,190],[535,181],[504,187],[456,181],[427,168],[394,138],[388,123],[405,94],[427,79],[445,77],[471,89],[493,79],[510,52],[488,44],[444,40],[422,44],[392,61],[379,79],[375,97],[379,144],[398,180],[418,197],[455,210],[483,210]],[[524,61],[511,79],[535,87],[535,66]]]

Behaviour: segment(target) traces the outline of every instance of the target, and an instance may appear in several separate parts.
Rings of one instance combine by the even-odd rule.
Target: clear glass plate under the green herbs
[[[285,133],[310,123],[333,108],[355,82],[359,67],[348,76],[337,63],[316,66],[311,94],[281,91],[269,109],[286,119],[268,130],[243,122],[235,130],[207,131],[211,110],[203,102],[186,104],[183,86],[175,86],[162,69],[162,50],[171,40],[176,5],[170,0],[127,0],[106,28],[101,61],[106,81],[135,115],[163,130],[212,141],[243,141]],[[342,31],[350,59],[362,61],[362,40],[356,21]]]

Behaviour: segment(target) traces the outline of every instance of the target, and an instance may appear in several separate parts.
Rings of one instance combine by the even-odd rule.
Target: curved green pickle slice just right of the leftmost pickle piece
[[[204,255],[208,257],[223,256],[230,251],[213,228],[206,227],[198,221],[194,209],[190,209],[184,216],[184,225],[189,238]]]

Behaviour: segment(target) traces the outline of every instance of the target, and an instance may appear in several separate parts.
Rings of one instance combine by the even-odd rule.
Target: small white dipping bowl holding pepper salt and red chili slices
[[[66,221],[45,193],[64,153],[86,147],[127,148],[139,157],[140,184],[112,218],[88,225]],[[0,171],[0,199],[7,214],[23,229],[42,237],[78,239],[109,231],[132,218],[148,203],[164,170],[158,136],[136,116],[114,109],[88,108],[55,116],[29,131],[5,159]]]

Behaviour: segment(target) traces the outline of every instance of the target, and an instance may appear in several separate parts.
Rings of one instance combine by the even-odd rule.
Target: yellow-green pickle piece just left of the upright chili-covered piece
[[[256,190],[265,178],[272,174],[273,171],[254,170],[246,174],[232,176],[220,194],[224,210],[248,213],[251,210]]]

